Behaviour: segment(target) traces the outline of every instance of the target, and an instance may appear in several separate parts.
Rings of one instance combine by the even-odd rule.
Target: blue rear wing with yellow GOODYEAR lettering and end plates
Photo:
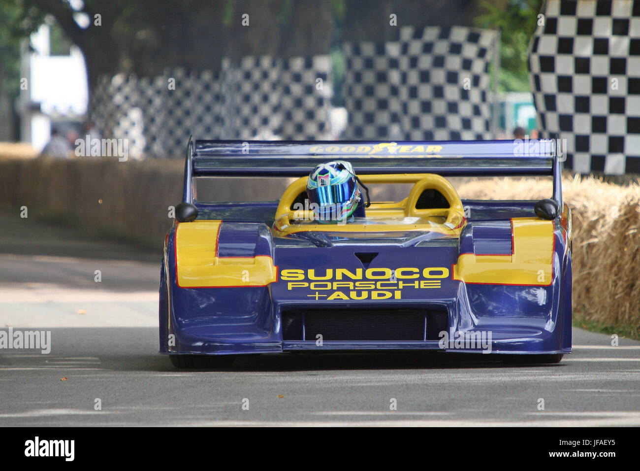
[[[214,141],[191,140],[183,202],[193,202],[193,178],[301,177],[318,163],[348,160],[356,174],[434,173],[442,176],[554,176],[562,207],[561,149],[556,139],[488,141]]]

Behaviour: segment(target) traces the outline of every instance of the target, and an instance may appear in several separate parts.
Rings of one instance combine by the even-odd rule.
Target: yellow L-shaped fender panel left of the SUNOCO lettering
[[[221,222],[200,220],[178,224],[175,229],[178,286],[264,286],[276,281],[276,267],[270,256],[218,257]]]

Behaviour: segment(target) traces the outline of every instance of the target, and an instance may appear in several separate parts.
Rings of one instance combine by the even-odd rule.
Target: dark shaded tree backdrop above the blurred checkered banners
[[[86,15],[87,28],[77,24],[80,12],[72,6]],[[156,76],[167,67],[216,70],[223,57],[331,54],[340,96],[344,42],[397,38],[391,13],[398,27],[472,26],[478,7],[476,0],[0,0],[0,35],[28,37],[49,15],[83,51],[90,90],[102,74]],[[248,27],[241,24],[244,13]]]

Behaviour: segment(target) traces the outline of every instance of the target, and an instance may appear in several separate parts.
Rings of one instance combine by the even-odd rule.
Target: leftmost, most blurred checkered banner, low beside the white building
[[[128,139],[134,158],[182,156],[189,135],[222,135],[221,96],[211,70],[167,69],[154,78],[102,76],[90,116],[105,137]]]

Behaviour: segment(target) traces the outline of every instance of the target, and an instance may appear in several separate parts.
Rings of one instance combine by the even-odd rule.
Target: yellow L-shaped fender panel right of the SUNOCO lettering
[[[553,278],[554,223],[536,217],[511,219],[513,254],[460,254],[453,278],[485,285],[548,286]]]

